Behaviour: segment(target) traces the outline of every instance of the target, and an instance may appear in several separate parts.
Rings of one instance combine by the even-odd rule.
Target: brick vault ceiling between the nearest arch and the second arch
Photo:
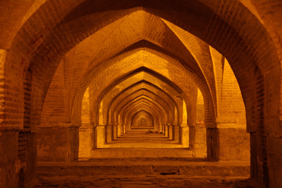
[[[139,11],[140,12],[140,11]],[[142,12],[142,11],[141,11]],[[144,11],[143,11],[144,12]],[[146,15],[149,14],[147,12],[144,12]],[[143,13],[143,14],[144,14]],[[129,41],[132,43],[133,41],[136,40],[136,38],[138,38],[138,36],[136,36],[137,34],[136,33],[140,33],[142,31],[139,31],[139,30],[126,30],[126,34],[127,36],[129,36],[127,39],[127,37],[120,37],[120,32],[124,32],[123,31],[123,28],[124,28],[124,22],[127,21],[130,17],[133,17],[135,16],[135,14],[137,14],[136,12],[133,12],[132,14],[130,14],[129,16],[127,16],[121,23],[120,25],[118,26],[118,28],[122,28],[118,30],[118,28],[115,28],[113,29],[113,33],[105,39],[105,42],[104,43],[101,43],[100,40],[97,41],[97,37],[95,36],[99,36],[97,33],[100,33],[100,32],[105,32],[105,35],[107,33],[107,28],[102,28],[101,30],[99,30],[99,32],[96,32],[95,34],[93,34],[92,36],[88,37],[87,39],[83,40],[81,43],[79,43],[78,45],[76,45],[75,48],[73,48],[72,50],[70,50],[66,56],[64,57],[63,60],[65,59],[68,59],[68,58],[72,58],[72,62],[74,62],[75,60],[76,61],[79,61],[79,63],[76,63],[74,64],[74,70],[72,72],[72,79],[76,80],[76,79],[80,79],[80,76],[81,72],[78,72],[77,70],[83,70],[84,68],[86,69],[86,64],[84,61],[84,59],[93,59],[94,63],[91,61],[90,65],[88,66],[88,68],[91,67],[91,65],[96,65],[97,63],[99,63],[100,61],[102,61],[102,59],[100,58],[101,56],[103,58],[109,56],[108,54],[111,54],[112,52],[113,54],[115,54],[116,52],[116,49],[121,49],[124,47],[124,44],[126,45],[130,45]],[[138,15],[138,14],[137,14]],[[140,17],[140,16],[139,16]],[[159,45],[159,46],[162,46],[163,48],[168,48],[170,51],[172,51],[174,54],[177,54],[176,56],[181,56],[182,54],[185,54],[185,56],[183,56],[184,58],[184,61],[189,61],[189,62],[193,62],[194,67],[197,66],[197,62],[195,61],[195,59],[193,58],[193,56],[190,54],[190,51],[186,49],[186,47],[181,43],[181,41],[177,38],[177,36],[175,36],[175,34],[169,29],[168,26],[166,26],[165,23],[163,23],[163,21],[156,17],[156,16],[152,16],[151,14],[149,14],[149,17],[147,18],[148,16],[146,16],[146,18],[142,18],[144,20],[149,20],[150,21],[150,24],[151,25],[163,25],[164,30],[161,30],[161,32],[157,32],[157,31],[151,31],[151,32],[143,32],[142,34],[140,34],[141,36],[143,36],[141,39],[143,38],[146,38],[146,40],[149,40],[151,41],[152,44],[155,44],[155,45]],[[151,18],[153,18],[154,21],[151,20]],[[131,18],[133,21],[135,19],[138,19],[137,18]],[[157,21],[156,21],[157,20]],[[128,22],[128,21],[127,21]],[[147,23],[147,22],[146,22]],[[149,28],[149,26],[144,26],[146,28]],[[135,28],[136,29],[136,28]],[[118,30],[118,31],[116,31]],[[153,37],[152,36],[152,33],[154,34],[155,32],[158,33],[158,36],[162,36],[162,37]],[[135,37],[132,37],[132,36],[135,36]],[[192,35],[190,35],[192,37]],[[115,41],[115,44],[114,45],[111,45],[111,43],[113,43],[111,41],[111,39],[114,38],[113,41]],[[119,40],[117,40],[119,38]],[[132,39],[133,38],[133,39]],[[167,40],[162,40],[161,38],[166,38]],[[125,40],[127,39],[127,40]],[[139,39],[139,38],[138,38]],[[96,46],[99,46],[101,45],[99,48],[96,47],[94,44],[93,44],[93,40],[97,41],[97,45]],[[109,40],[111,42],[109,42]],[[125,40],[125,41],[124,41]],[[144,40],[143,40],[144,41]],[[100,43],[101,44],[100,44]],[[169,45],[169,43],[171,42],[174,42],[175,46],[174,47],[171,47],[171,45]],[[129,44],[127,44],[129,43]],[[147,45],[147,44],[144,44],[144,45]],[[177,48],[176,48],[177,47]],[[82,50],[83,49],[83,50]],[[97,50],[97,52],[95,51]],[[85,52],[84,52],[85,51]],[[82,53],[84,52],[84,53]],[[93,53],[92,54],[92,57],[89,57],[91,55],[89,55],[89,53]],[[76,54],[76,56],[74,56],[73,54]],[[81,55],[83,54],[83,55]],[[97,56],[97,57],[96,57]],[[75,60],[73,60],[75,59]],[[82,61],[82,62],[81,62]],[[198,68],[199,69],[199,68]],[[199,70],[198,70],[199,71]],[[74,84],[72,85],[72,87],[77,87],[77,83],[78,82],[74,82]],[[70,98],[72,98],[72,96],[74,95],[73,94],[74,92],[72,92],[70,94]]]

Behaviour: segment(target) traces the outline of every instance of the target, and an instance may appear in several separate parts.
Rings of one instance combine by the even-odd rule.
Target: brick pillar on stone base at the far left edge
[[[35,155],[27,161],[27,153],[32,154],[32,151],[27,152],[26,137],[25,140],[18,139],[19,131],[24,131],[23,73],[5,69],[7,53],[7,50],[0,49],[0,185],[19,187],[24,186],[25,173],[30,175],[26,182],[34,177],[35,165],[27,164],[30,164],[30,160],[35,162],[36,148],[32,147],[34,140],[31,139],[30,143],[33,143],[30,148]]]

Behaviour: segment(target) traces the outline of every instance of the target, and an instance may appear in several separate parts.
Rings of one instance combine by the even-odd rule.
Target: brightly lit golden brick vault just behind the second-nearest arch
[[[149,50],[149,53],[146,52],[147,50]],[[129,55],[129,53],[130,54],[133,53],[133,54]],[[198,83],[198,86],[201,88],[201,90],[205,91],[203,93],[207,93],[207,94],[209,93],[208,95],[205,95],[205,96],[211,96],[210,90],[208,89],[208,86],[207,86],[207,83],[203,79],[197,78],[198,75],[193,74],[193,73],[191,73],[191,71],[187,70],[184,67],[185,63],[184,63],[183,60],[180,60],[180,61],[183,61],[182,63],[180,63],[180,62],[177,62],[177,60],[175,60],[175,59],[171,59],[170,56],[166,56],[162,52],[158,52],[156,50],[150,50],[150,49],[146,49],[146,48],[144,50],[142,50],[142,49],[131,50],[131,51],[129,51],[129,53],[126,52],[126,53],[120,54],[119,56],[115,56],[114,59],[111,59],[111,60],[101,64],[100,67],[98,66],[98,67],[90,69],[89,72],[87,74],[85,74],[85,76],[87,76],[88,78],[85,78],[86,80],[83,81],[82,83],[84,83],[84,84],[85,83],[89,83],[90,80],[92,81],[93,79],[95,79],[95,77],[94,77],[95,74],[93,74],[93,72],[104,72],[104,73],[99,75],[101,78],[99,78],[97,76],[97,79],[103,80],[105,78],[108,79],[109,75],[118,75],[118,74],[116,74],[116,72],[121,73],[122,71],[118,70],[118,67],[120,67],[120,66],[123,66],[123,67],[121,67],[121,69],[124,71],[125,69],[129,69],[129,70],[134,69],[135,66],[138,65],[138,63],[141,63],[142,66],[144,66],[144,65],[149,63],[149,64],[152,64],[151,66],[149,66],[152,70],[155,70],[155,69],[156,70],[167,69],[165,72],[163,72],[163,75],[165,75],[165,76],[167,76],[168,74],[169,75],[175,74],[175,73],[179,74],[179,73],[181,73],[184,70],[184,72],[185,72],[184,74],[187,74],[186,76],[184,76],[186,78],[183,78],[182,80],[174,81],[174,83],[179,85],[179,83],[183,83],[184,81],[187,81],[187,79],[188,80],[189,79],[196,80],[196,83]],[[156,56],[154,56],[153,54],[156,54]],[[174,57],[177,58],[176,56],[174,56]],[[124,58],[124,59],[119,60],[118,62],[116,62],[116,60],[121,59],[121,58]],[[164,61],[164,59],[166,59],[166,61]],[[135,62],[134,65],[132,65],[132,61],[133,60]],[[111,63],[111,65],[109,65],[108,63]],[[113,64],[113,63],[115,63],[115,64]],[[175,67],[175,64],[179,68]],[[105,67],[106,67],[105,65],[109,66],[109,68],[106,69],[106,70],[105,70]],[[163,65],[165,65],[165,66],[163,66]],[[175,68],[173,68],[173,67],[175,67]],[[114,73],[110,72],[113,69],[116,72],[114,72]],[[179,69],[179,70],[177,70],[177,69]],[[201,74],[201,73],[199,73],[199,74]],[[169,76],[169,77],[171,77],[171,76]],[[175,77],[179,77],[179,76],[180,75],[177,75]],[[189,78],[187,78],[187,77],[189,77]],[[117,80],[117,79],[118,78],[116,78],[115,80]],[[172,78],[169,78],[169,79],[172,79]],[[188,81],[188,83],[189,83],[189,81]],[[84,85],[84,84],[82,84],[82,85]],[[181,87],[185,88],[185,85],[187,85],[187,84],[183,83],[181,85]],[[190,85],[188,85],[188,87],[189,86]],[[87,87],[87,84],[85,84],[85,86],[83,86],[83,87]],[[103,88],[100,89],[100,87],[101,86],[96,87],[96,90],[103,90]],[[84,88],[82,90],[84,91]],[[78,89],[78,91],[79,91],[79,89]],[[83,93],[83,92],[81,91],[79,93]],[[95,91],[95,93],[98,94],[99,92]],[[186,95],[189,95],[189,93],[190,92],[186,92]],[[211,99],[211,97],[210,97],[210,99]],[[208,101],[209,99],[206,99],[206,100]],[[76,100],[74,100],[74,101],[76,101]],[[210,101],[212,101],[212,99]]]

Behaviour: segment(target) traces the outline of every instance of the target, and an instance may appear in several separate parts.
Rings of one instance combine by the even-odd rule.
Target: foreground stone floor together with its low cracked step
[[[250,188],[255,186],[249,180],[249,163],[199,158],[82,158],[70,163],[38,162],[39,182],[34,188]]]

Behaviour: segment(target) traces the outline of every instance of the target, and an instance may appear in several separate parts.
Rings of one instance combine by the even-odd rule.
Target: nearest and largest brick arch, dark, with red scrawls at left
[[[86,38],[87,35],[94,33],[96,30],[102,28],[103,26],[113,22],[115,19],[118,19],[119,17],[128,15],[130,12],[133,12],[135,10],[144,9],[147,12],[150,12],[151,14],[160,16],[172,23],[174,23],[177,26],[180,26],[184,30],[188,30],[192,34],[195,34],[199,38],[203,39],[204,41],[211,44],[215,49],[217,49],[219,52],[221,52],[230,62],[230,65],[234,71],[234,74],[236,75],[238,79],[238,83],[242,89],[243,93],[243,99],[245,103],[248,103],[247,98],[248,95],[254,95],[250,92],[248,92],[247,88],[250,88],[254,85],[254,82],[246,71],[244,69],[250,69],[254,68],[254,64],[258,64],[261,66],[261,69],[264,70],[264,73],[268,71],[275,72],[275,74],[280,75],[279,71],[272,70],[272,67],[277,67],[277,54],[276,49],[272,43],[272,41],[269,39],[269,34],[263,27],[263,25],[256,19],[254,15],[251,14],[250,11],[246,7],[244,7],[240,2],[233,1],[232,5],[238,7],[238,12],[232,16],[224,16],[221,15],[221,5],[224,6],[224,3],[220,4],[220,1],[216,2],[197,2],[197,3],[191,3],[191,2],[177,2],[173,5],[169,3],[168,1],[155,1],[154,4],[151,4],[149,2],[130,2],[130,1],[119,1],[118,4],[115,2],[111,2],[109,5],[105,7],[104,5],[107,4],[107,1],[103,1],[103,3],[97,3],[91,5],[95,5],[97,9],[89,10],[89,2],[83,2],[80,5],[73,4],[71,6],[65,6],[68,7],[69,10],[65,10],[65,7],[62,5],[53,5],[55,3],[54,1],[47,1],[44,3],[28,20],[27,22],[21,27],[21,29],[18,31],[16,37],[14,38],[14,41],[12,43],[12,47],[10,50],[10,53],[7,56],[7,66],[5,67],[6,70],[9,70],[9,68],[12,68],[10,62],[15,62],[14,67],[21,67],[20,66],[20,58],[21,55],[15,56],[19,57],[19,59],[13,59],[12,57],[20,48],[26,49],[23,50],[22,54],[25,54],[28,52],[28,49],[30,49],[31,43],[26,43],[25,41],[22,41],[22,39],[27,39],[27,41],[32,41],[34,36],[36,36],[37,33],[44,30],[45,25],[50,25],[50,28],[52,30],[45,30],[44,34],[47,34],[46,37],[44,36],[44,39],[48,41],[46,43],[47,47],[54,47],[52,50],[50,50],[50,53],[46,56],[46,58],[53,59],[54,57],[54,63],[52,63],[50,66],[46,66],[46,63],[34,63],[35,61],[33,59],[36,59],[35,55],[28,57],[28,62],[34,63],[30,68],[32,71],[35,71],[33,73],[34,76],[34,82],[38,84],[39,86],[42,86],[40,89],[42,91],[38,90],[39,98],[40,96],[43,96],[44,98],[44,92],[48,88],[48,83],[50,82],[50,79],[52,75],[54,74],[54,71],[56,67],[58,66],[58,62],[55,60],[55,57],[62,57],[62,55],[69,50],[72,46],[79,43],[83,38]],[[158,6],[156,6],[158,5]],[[55,6],[58,8],[58,10],[61,10],[61,12],[64,12],[64,14],[57,16],[61,19],[58,19],[58,23],[47,23],[46,20],[44,20],[43,17],[41,17],[41,12],[49,12],[48,7],[49,6]],[[100,8],[99,8],[100,7]],[[143,7],[143,8],[141,8]],[[155,7],[160,7],[160,9],[157,9]],[[199,8],[200,7],[200,8]],[[195,14],[194,8],[197,8],[198,12]],[[100,10],[100,14],[97,14],[97,10]],[[105,12],[107,12],[107,15],[105,15]],[[110,10],[110,11],[107,11]],[[177,10],[177,11],[176,11]],[[117,14],[118,12],[118,14]],[[96,14],[95,14],[96,13]],[[226,12],[224,12],[226,13]],[[59,13],[58,13],[59,14]],[[227,14],[227,13],[226,13]],[[96,19],[93,19],[93,17],[86,17],[86,15],[95,15]],[[198,16],[201,15],[201,16]],[[240,15],[240,16],[239,16]],[[243,17],[247,17],[247,20],[242,20]],[[35,19],[37,18],[37,19]],[[104,19],[102,19],[104,18]],[[111,19],[108,19],[111,18]],[[97,19],[101,19],[100,24],[95,24]],[[232,22],[232,20],[238,20],[241,23],[246,23],[244,25],[239,25],[238,22]],[[89,21],[89,23],[88,23]],[[33,26],[31,23],[34,23],[34,25],[38,25],[37,30],[31,29]],[[39,24],[41,23],[41,24]],[[78,23],[78,28],[80,29],[74,29],[71,26],[76,25],[75,23]],[[88,23],[88,24],[85,24]],[[221,27],[217,27],[217,26]],[[81,26],[81,27],[80,27]],[[62,28],[69,28],[68,29],[62,29]],[[25,32],[25,30],[30,31],[28,34]],[[47,32],[48,31],[48,32]],[[53,31],[53,32],[51,32]],[[51,33],[56,33],[55,31],[58,31],[59,37],[51,37]],[[70,38],[73,38],[71,42],[67,38],[62,38],[61,44],[54,46],[53,44],[56,44],[56,41],[59,41],[60,36],[63,31],[68,31]],[[256,31],[256,32],[254,32]],[[230,40],[228,42],[222,41],[218,39],[219,36],[222,36],[221,33],[224,33],[224,36],[228,37]],[[249,35],[244,35],[245,33],[251,33],[254,34],[253,39],[254,40],[248,40]],[[259,33],[259,34],[256,34]],[[23,37],[26,36],[26,37]],[[262,36],[262,37],[261,37]],[[270,50],[256,50],[256,49],[263,49],[263,48],[257,48],[259,44],[263,44],[265,46],[265,49]],[[232,49],[232,50],[231,50]],[[245,52],[246,51],[246,52]],[[58,53],[56,53],[58,52]],[[240,54],[240,56],[235,54]],[[273,54],[270,54],[272,53]],[[43,54],[43,52],[39,53]],[[38,54],[36,54],[38,55]],[[55,55],[55,56],[54,56]],[[29,55],[30,56],[30,55]],[[268,59],[270,62],[273,63],[264,63],[265,59]],[[14,60],[14,61],[13,61]],[[57,63],[56,63],[57,62]],[[242,67],[241,63],[244,62],[247,67]],[[18,63],[18,64],[17,64]],[[39,71],[41,70],[41,71]],[[9,71],[6,71],[9,72]],[[16,78],[19,78],[19,72],[15,71],[13,73],[10,73],[12,76],[16,76]],[[9,74],[9,75],[10,75]],[[46,80],[41,79],[41,77],[45,76]],[[253,78],[253,77],[252,77]],[[272,75],[269,75],[266,77],[266,79],[269,79],[272,81],[274,78]],[[246,81],[247,80],[247,81]],[[249,84],[244,84],[244,82],[247,82]],[[247,85],[247,86],[246,86]],[[34,91],[37,91],[37,87],[34,88]],[[279,88],[274,88],[274,91],[279,92]],[[273,91],[273,94],[274,94]],[[272,97],[273,99],[273,97]],[[38,101],[42,103],[44,99],[39,99]],[[279,95],[275,95],[275,102],[278,103],[279,101]],[[246,105],[247,108],[252,105]],[[278,110],[278,105],[276,105]],[[42,108],[42,107],[41,107]],[[247,110],[248,111],[248,110]],[[249,112],[247,112],[249,113]]]

